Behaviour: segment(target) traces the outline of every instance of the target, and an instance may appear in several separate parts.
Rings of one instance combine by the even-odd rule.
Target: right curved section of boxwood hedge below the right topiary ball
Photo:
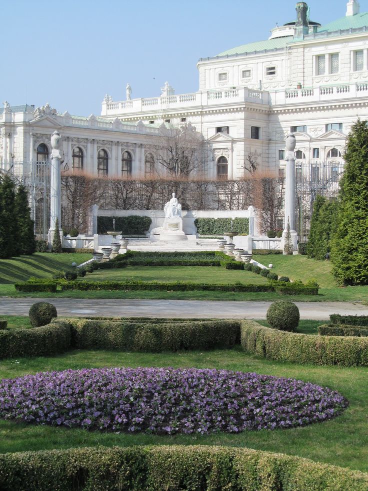
[[[368,366],[368,338],[315,336],[263,327],[244,320],[241,346],[257,356],[312,365]]]

